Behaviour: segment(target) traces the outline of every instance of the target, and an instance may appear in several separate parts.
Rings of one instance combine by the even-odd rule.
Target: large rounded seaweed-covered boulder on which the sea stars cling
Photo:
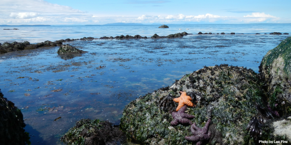
[[[159,107],[159,100],[164,96],[172,93],[178,97],[179,91],[185,91],[195,95],[198,101],[195,108],[188,107],[186,111],[196,116],[192,122],[197,127],[205,125],[207,106],[213,105],[209,130],[214,134],[209,139],[211,143],[248,144],[254,140],[246,127],[251,117],[258,114],[256,104],[263,105],[262,98],[265,97],[260,82],[258,74],[244,67],[205,67],[176,80],[168,90],[158,89],[129,103],[124,109],[120,128],[128,138],[143,144],[192,144],[184,138],[191,135],[190,127],[171,127],[171,113]]]

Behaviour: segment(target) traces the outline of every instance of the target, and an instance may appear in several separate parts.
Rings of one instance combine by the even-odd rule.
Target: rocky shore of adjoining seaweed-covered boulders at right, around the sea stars
[[[290,48],[291,37],[270,50],[260,64],[259,74],[252,69],[227,64],[205,66],[187,74],[172,86],[129,103],[124,109],[120,129],[129,140],[141,144],[291,141],[290,131],[286,128],[291,125],[288,121],[291,115]],[[185,111],[195,116],[190,120],[192,126],[183,122],[178,126],[171,123],[174,120],[172,112],[176,112],[178,106],[173,98],[178,98],[180,92],[186,92],[196,106],[188,106]],[[193,130],[199,130],[198,127],[206,132],[200,136],[202,138]],[[189,141],[186,136],[191,135],[197,138]]]

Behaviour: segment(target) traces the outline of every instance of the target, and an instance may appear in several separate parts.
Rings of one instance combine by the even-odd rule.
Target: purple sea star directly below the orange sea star
[[[171,122],[172,126],[177,126],[179,123],[180,124],[190,124],[190,125],[193,124],[189,119],[193,119],[195,116],[190,115],[190,114],[186,114],[185,113],[186,108],[187,108],[187,106],[183,106],[180,108],[180,110],[178,112],[172,112],[172,116],[174,118],[174,120]],[[189,119],[187,119],[187,118],[189,118]]]

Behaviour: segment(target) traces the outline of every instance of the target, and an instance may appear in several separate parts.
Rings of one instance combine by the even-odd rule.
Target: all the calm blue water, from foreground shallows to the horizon
[[[188,35],[175,39],[74,41],[69,44],[88,53],[71,59],[58,56],[58,47],[0,55],[0,88],[5,97],[21,109],[32,144],[62,144],[58,140],[60,136],[81,118],[99,118],[118,124],[125,105],[130,101],[155,89],[171,86],[176,79],[205,65],[226,63],[258,72],[266,52],[290,35],[254,34],[291,33],[289,25],[169,27],[171,29],[168,30],[155,29],[156,26],[123,26],[119,29],[25,27],[26,31],[8,30],[15,34],[0,30],[1,43],[122,34],[168,35],[181,32],[176,30],[179,28],[188,28],[186,32],[194,34],[199,31],[245,33]],[[55,121],[58,117],[61,118]]]

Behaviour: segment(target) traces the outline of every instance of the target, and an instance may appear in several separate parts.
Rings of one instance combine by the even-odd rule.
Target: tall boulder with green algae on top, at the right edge
[[[291,110],[291,37],[266,53],[259,72],[265,80],[264,89],[271,96],[270,107],[287,114]]]

